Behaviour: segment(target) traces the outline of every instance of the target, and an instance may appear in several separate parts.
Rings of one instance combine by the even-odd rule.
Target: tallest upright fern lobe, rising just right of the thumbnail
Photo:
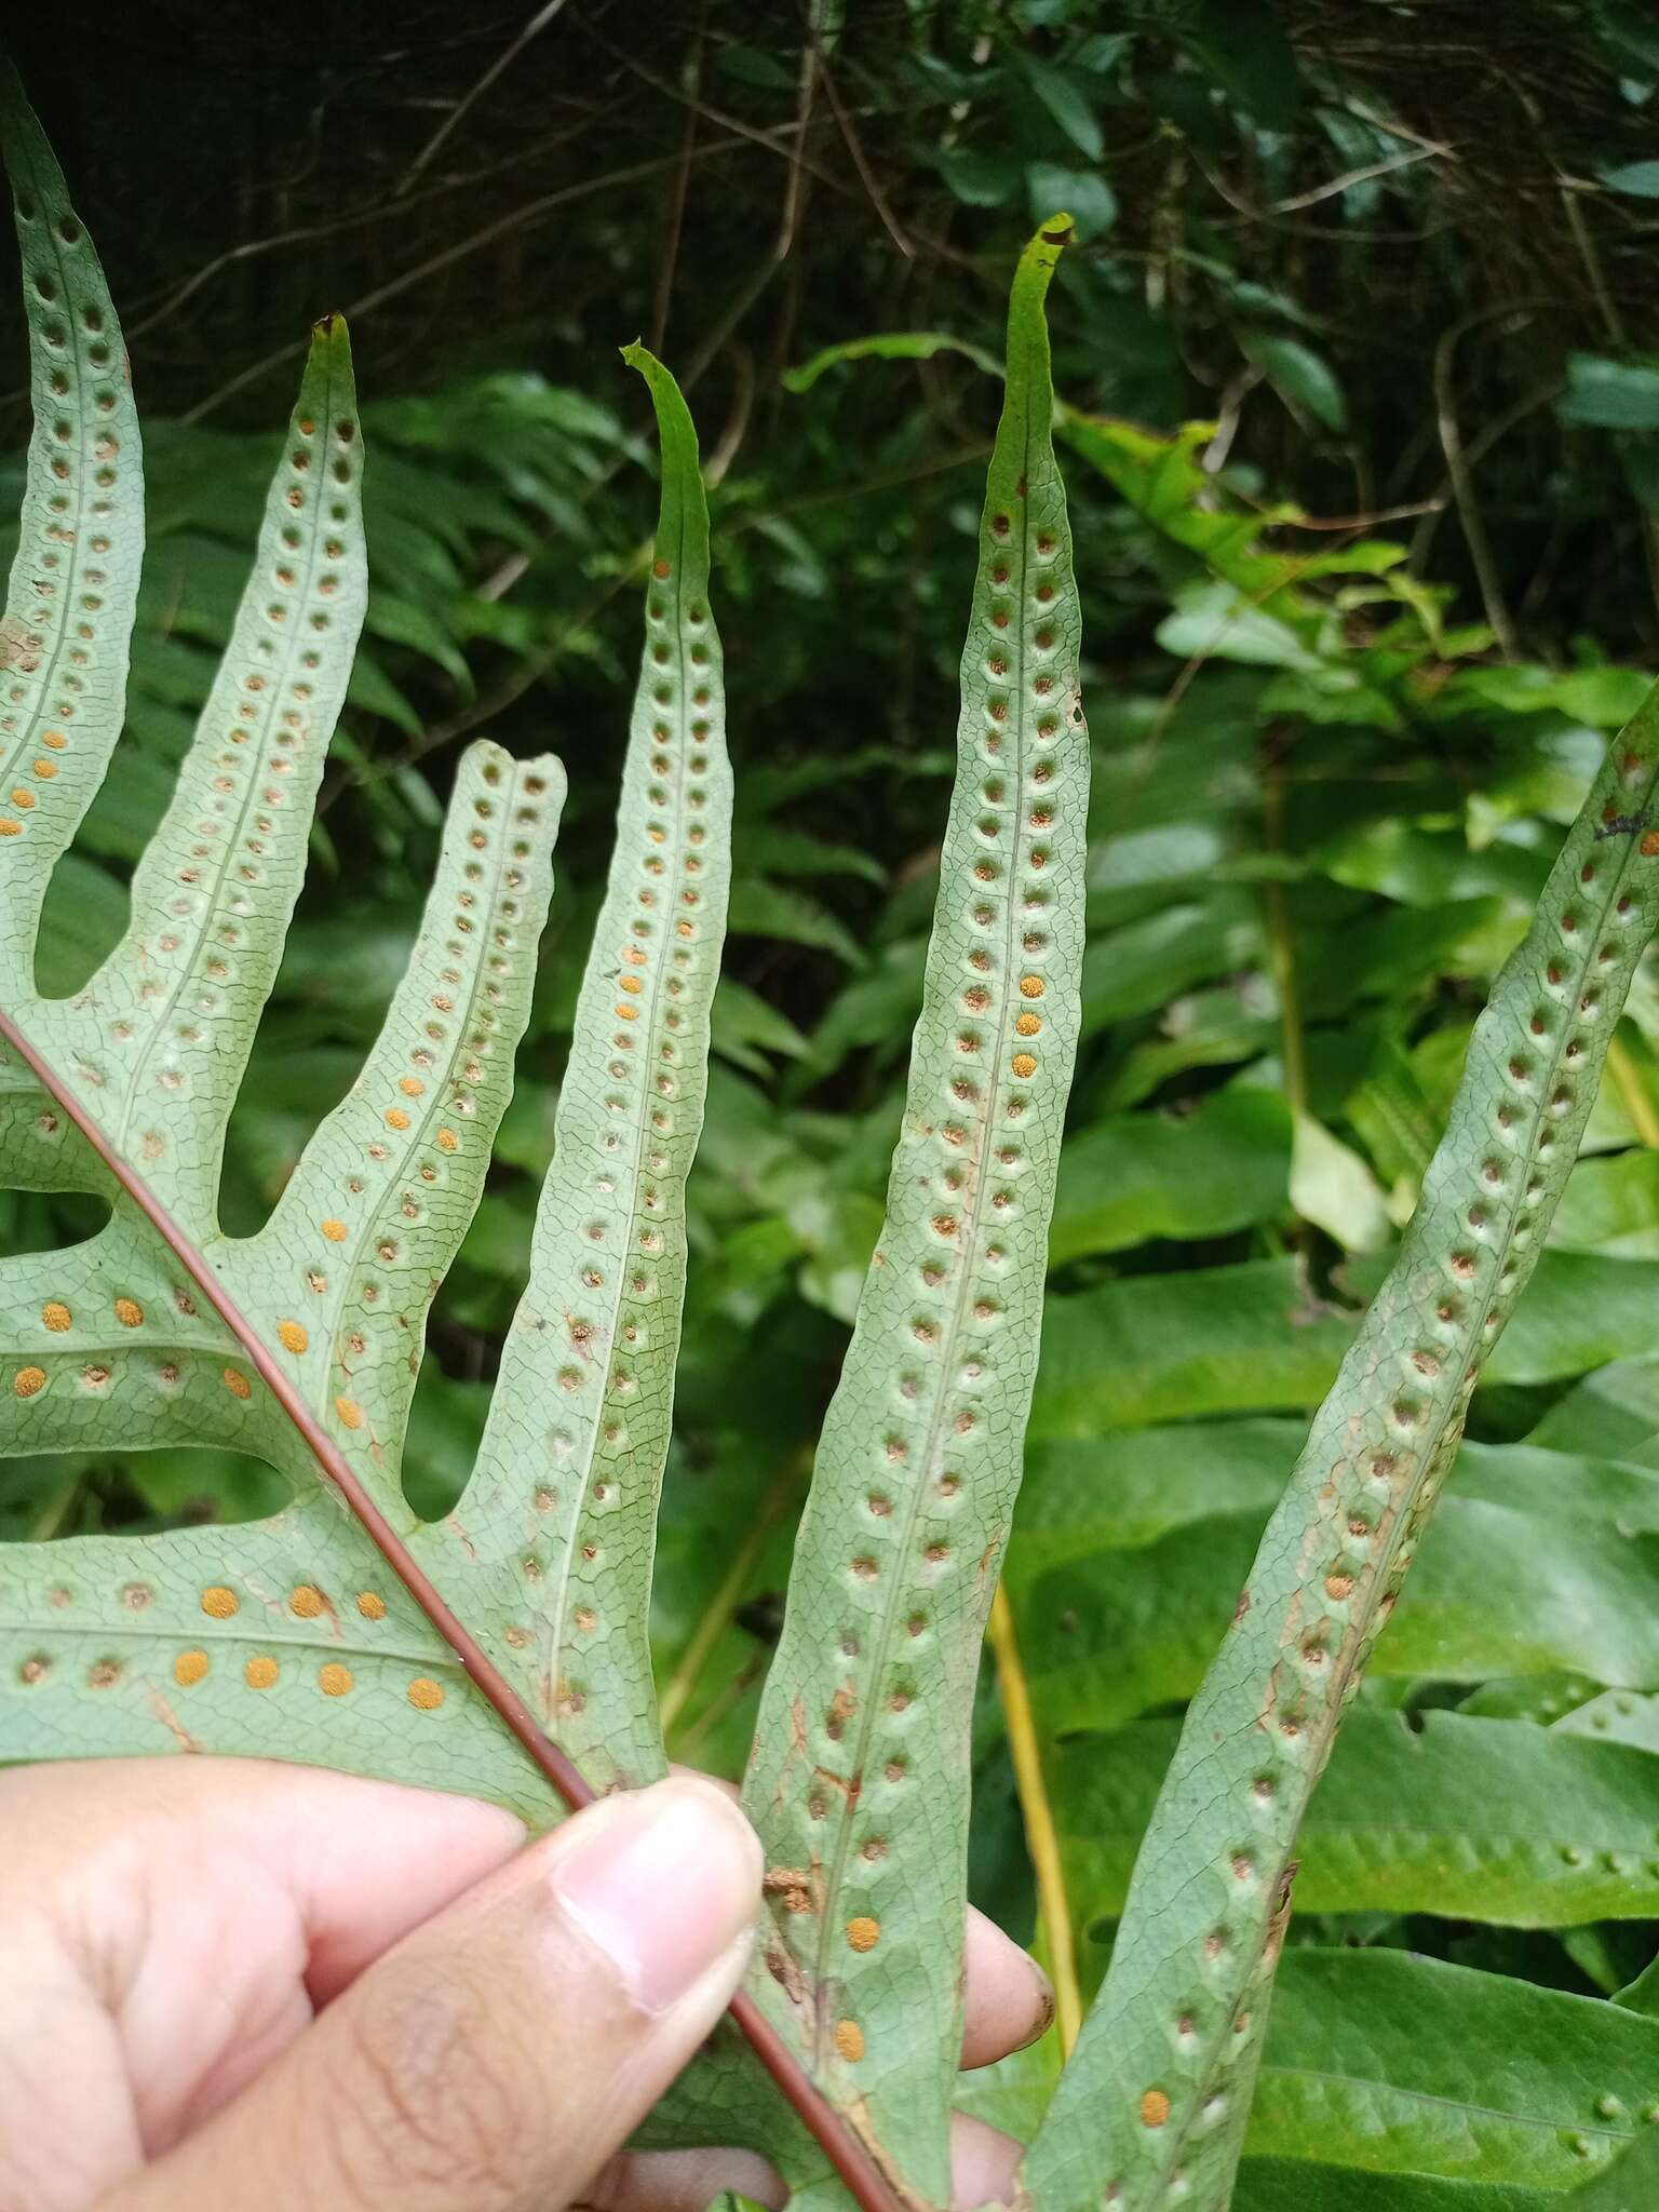
[[[905,1124],[745,1787],[779,1889],[763,2002],[933,2203],[962,2039],[969,1719],[1077,1037],[1088,734],[1044,321],[1068,232],[1044,226],[1013,283]]]

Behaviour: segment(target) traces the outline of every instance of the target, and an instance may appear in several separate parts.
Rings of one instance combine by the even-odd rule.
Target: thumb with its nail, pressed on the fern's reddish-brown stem
[[[557,2212],[719,2020],[759,1900],[719,1790],[604,1798],[376,1960],[104,2212]]]

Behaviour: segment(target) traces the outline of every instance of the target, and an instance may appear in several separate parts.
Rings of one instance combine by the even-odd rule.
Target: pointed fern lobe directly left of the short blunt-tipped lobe
[[[133,874],[128,931],[75,998],[13,1000],[117,1150],[204,1234],[363,622],[361,476],[334,319],[312,341],[230,648]]]

